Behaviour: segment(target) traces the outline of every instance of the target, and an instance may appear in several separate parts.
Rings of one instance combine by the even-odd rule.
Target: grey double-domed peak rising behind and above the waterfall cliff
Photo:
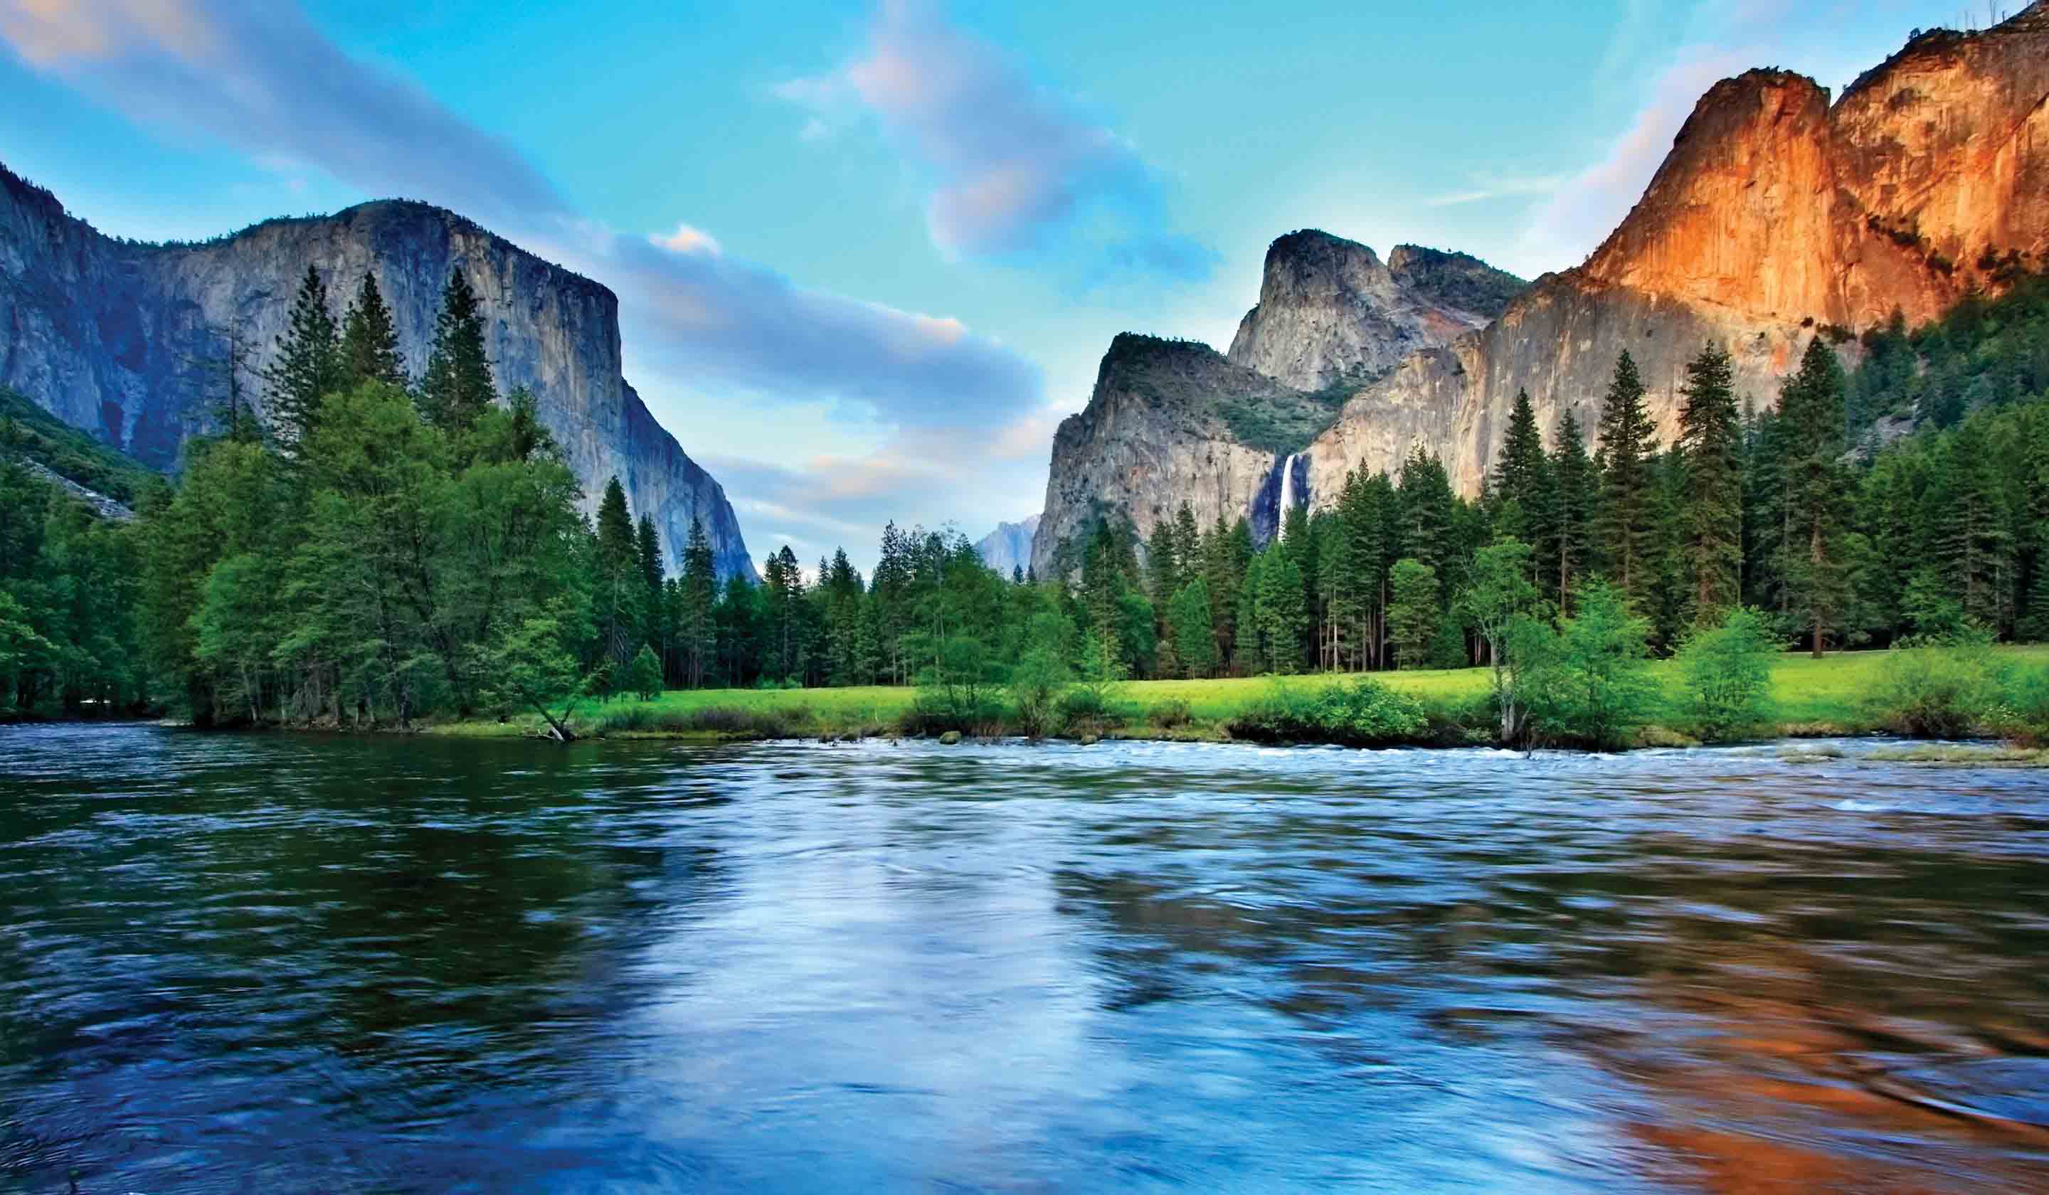
[[[1383,264],[1358,242],[1291,232],[1266,246],[1260,303],[1229,359],[1295,389],[1367,381],[1483,326],[1522,285],[1467,254],[1395,246]]]

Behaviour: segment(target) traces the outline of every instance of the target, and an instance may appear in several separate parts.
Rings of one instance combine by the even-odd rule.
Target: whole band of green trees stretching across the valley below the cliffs
[[[807,570],[783,547],[760,582],[721,580],[701,525],[670,568],[617,478],[594,521],[578,512],[533,398],[496,392],[459,273],[412,377],[375,281],[336,316],[307,271],[258,379],[266,418],[229,398],[182,482],[139,496],[137,525],[0,502],[0,668],[18,707],[154,691],[201,722],[406,724],[662,687],[973,687],[1027,666],[1500,664],[1504,603],[1563,631],[1590,592],[1596,621],[1641,625],[1654,654],[1738,609],[1762,642],[1813,652],[2049,635],[2049,285],[1914,332],[1895,318],[1854,351],[1824,330],[1770,410],[1731,375],[1703,346],[1664,445],[1623,353],[1590,435],[1572,416],[1541,428],[1518,396],[1479,496],[1416,451],[1283,512],[1268,543],[1184,504],[1143,541],[1098,519],[1055,578],[1000,578],[957,531],[889,525],[871,576],[844,549]],[[8,486],[41,482],[16,465]]]

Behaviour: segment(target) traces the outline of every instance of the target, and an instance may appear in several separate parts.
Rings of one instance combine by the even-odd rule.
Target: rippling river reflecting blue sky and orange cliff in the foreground
[[[2043,1191],[2045,963],[2043,773],[0,730],[0,1189]]]

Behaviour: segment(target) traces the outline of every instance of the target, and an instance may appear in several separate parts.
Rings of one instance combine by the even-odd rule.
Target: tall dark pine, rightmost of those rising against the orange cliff
[[[1787,588],[1809,629],[1815,658],[1822,658],[1828,633],[1842,627],[1848,605],[1840,543],[1850,492],[1848,471],[1842,467],[1842,363],[1815,336],[1779,398],[1779,420],[1787,437],[1781,469],[1791,529],[1785,543]]]

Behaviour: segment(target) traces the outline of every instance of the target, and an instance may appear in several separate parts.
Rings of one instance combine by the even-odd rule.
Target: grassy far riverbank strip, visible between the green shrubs
[[[1772,662],[1770,717],[1764,738],[1834,738],[1887,730],[1887,711],[1871,695],[1883,685],[1889,652],[1836,652],[1822,660],[1787,654]],[[2000,648],[2012,668],[2049,666],[2049,646]],[[1658,707],[1639,732],[1641,746],[1697,742],[1680,670],[1670,660],[1647,666],[1658,685]],[[1277,701],[1311,701],[1354,674],[1242,676],[1217,681],[1127,681],[1109,689],[1100,709],[1086,709],[1065,728],[1065,738],[1139,738],[1176,742],[1231,742],[1252,738],[1246,724]],[[1488,668],[1375,672],[1389,691],[1414,699],[1428,726],[1410,742],[1461,746],[1492,742]],[[873,738],[926,730],[918,691],[902,687],[852,689],[691,689],[652,701],[615,699],[586,703],[572,713],[578,734],[604,738],[686,738],[709,742],[764,738]],[[1236,726],[1236,730],[1233,730]],[[541,734],[537,715],[506,722],[449,722],[430,728],[457,736]],[[981,734],[1020,734],[1016,709],[998,697],[998,713]]]

